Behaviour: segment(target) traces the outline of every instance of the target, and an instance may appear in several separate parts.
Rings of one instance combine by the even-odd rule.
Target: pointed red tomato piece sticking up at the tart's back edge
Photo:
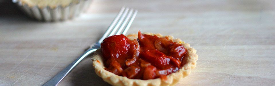
[[[145,35],[138,31],[137,39],[140,46],[143,47],[144,50],[154,50],[154,42],[156,41],[156,39],[158,39],[158,36]]]

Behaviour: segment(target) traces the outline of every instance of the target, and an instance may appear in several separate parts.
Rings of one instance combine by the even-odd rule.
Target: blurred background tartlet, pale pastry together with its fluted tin
[[[38,21],[72,19],[87,9],[92,0],[12,0],[22,11]]]

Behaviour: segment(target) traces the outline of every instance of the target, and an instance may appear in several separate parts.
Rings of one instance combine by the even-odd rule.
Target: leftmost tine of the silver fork
[[[118,19],[121,17],[122,12],[124,11],[125,7],[122,7],[119,11],[119,13],[117,14],[117,16],[115,17],[115,19],[113,20],[113,22],[111,23],[111,25],[109,26],[109,28],[107,29],[107,31],[104,33],[104,35],[100,38],[100,40],[98,41],[99,43],[101,43],[106,37],[108,37],[110,31],[113,29],[113,27],[115,26],[115,24],[117,23]]]

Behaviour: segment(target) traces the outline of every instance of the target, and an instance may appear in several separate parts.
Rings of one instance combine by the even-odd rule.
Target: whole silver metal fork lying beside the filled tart
[[[55,75],[52,79],[50,79],[42,86],[56,86],[76,66],[76,64],[78,64],[83,58],[87,57],[95,50],[100,48],[101,42],[106,37],[118,34],[125,35],[129,27],[131,26],[133,20],[135,19],[136,15],[137,10],[134,11],[134,9],[130,9],[129,7],[122,7],[117,16],[115,17],[115,19],[113,20],[113,22],[111,23],[111,25],[109,26],[109,28],[107,29],[107,31],[105,32],[105,34],[98,42],[92,44],[92,46],[88,50],[86,50],[81,56],[79,56],[76,60],[74,60],[74,62],[69,64],[65,69],[63,69],[61,72],[59,72],[57,75]]]

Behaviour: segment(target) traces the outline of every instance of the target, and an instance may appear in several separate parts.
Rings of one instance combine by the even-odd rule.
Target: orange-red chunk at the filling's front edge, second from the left
[[[130,66],[122,71],[122,75],[133,79],[140,72],[140,67],[138,66]]]

